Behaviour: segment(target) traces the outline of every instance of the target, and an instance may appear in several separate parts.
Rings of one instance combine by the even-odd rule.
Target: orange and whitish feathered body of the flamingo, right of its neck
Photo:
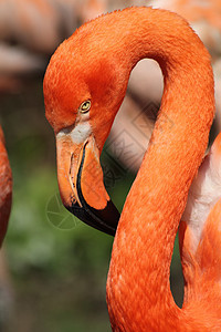
[[[183,307],[191,311],[212,303],[211,320],[220,317],[221,266],[221,133],[193,179],[179,229],[186,281]],[[200,297],[199,297],[200,294]],[[194,307],[192,308],[192,303]],[[212,318],[213,317],[213,318]]]

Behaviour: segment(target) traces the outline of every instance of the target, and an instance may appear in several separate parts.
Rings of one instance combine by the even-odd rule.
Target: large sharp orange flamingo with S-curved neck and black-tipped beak
[[[99,155],[130,71],[144,58],[159,63],[165,89],[119,217],[103,184]],[[115,235],[106,287],[113,331],[220,331],[221,136],[200,167],[214,116],[210,55],[200,39],[166,10],[115,11],[82,25],[59,46],[43,89],[62,201],[83,221]],[[180,309],[169,274],[182,214]]]

